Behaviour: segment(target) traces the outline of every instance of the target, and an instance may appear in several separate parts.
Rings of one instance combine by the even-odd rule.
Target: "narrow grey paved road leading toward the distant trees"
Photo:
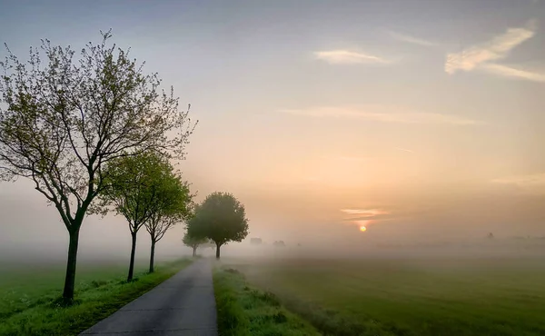
[[[193,262],[80,335],[217,336],[210,262]]]

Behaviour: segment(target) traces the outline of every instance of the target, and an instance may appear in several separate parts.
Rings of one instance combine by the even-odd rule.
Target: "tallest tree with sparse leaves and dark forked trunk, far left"
[[[45,40],[28,62],[9,49],[0,62],[0,179],[30,179],[59,213],[70,237],[65,302],[74,298],[79,232],[104,189],[104,164],[150,149],[181,159],[195,126],[172,88],[161,91],[157,74],[144,74],[128,50],[108,45],[110,32],[101,34],[76,58]]]

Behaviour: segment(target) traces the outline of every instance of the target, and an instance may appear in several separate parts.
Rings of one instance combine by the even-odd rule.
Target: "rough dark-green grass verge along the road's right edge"
[[[216,270],[213,288],[221,336],[319,335],[308,322],[283,308],[272,293],[248,287],[236,270]]]

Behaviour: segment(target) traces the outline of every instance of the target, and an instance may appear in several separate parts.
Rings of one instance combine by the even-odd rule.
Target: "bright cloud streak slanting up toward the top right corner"
[[[471,71],[480,64],[503,59],[511,49],[535,35],[535,31],[535,21],[530,21],[526,27],[509,28],[485,44],[473,45],[460,53],[447,54],[445,72],[454,74],[457,71]]]

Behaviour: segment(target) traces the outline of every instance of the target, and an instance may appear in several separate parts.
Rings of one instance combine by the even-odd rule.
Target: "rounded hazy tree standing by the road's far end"
[[[208,238],[216,244],[216,258],[227,242],[242,242],[248,235],[248,219],[244,206],[231,193],[211,193],[196,207],[187,222],[193,237]]]

